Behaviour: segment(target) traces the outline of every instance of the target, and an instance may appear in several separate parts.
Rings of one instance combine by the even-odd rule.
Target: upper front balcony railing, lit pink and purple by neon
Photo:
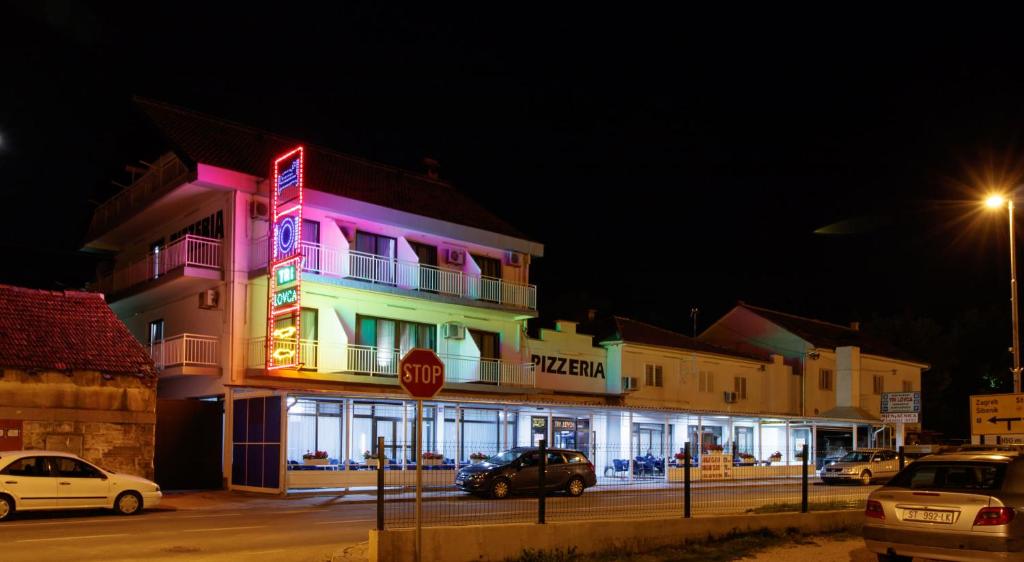
[[[266,267],[267,251],[268,243],[265,237],[252,243],[249,253],[250,269]],[[537,310],[535,285],[509,283],[486,275],[470,275],[455,269],[312,243],[303,243],[302,252],[303,271],[317,275]]]

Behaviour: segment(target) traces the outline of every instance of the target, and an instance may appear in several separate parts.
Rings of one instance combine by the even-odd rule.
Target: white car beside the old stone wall
[[[0,521],[15,511],[113,509],[133,515],[160,504],[156,482],[52,450],[0,451]]]

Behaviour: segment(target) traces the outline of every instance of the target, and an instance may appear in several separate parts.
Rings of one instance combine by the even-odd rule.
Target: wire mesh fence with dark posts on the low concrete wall
[[[412,457],[415,446],[408,445],[404,450]],[[387,443],[384,450],[401,448],[401,443]],[[486,450],[487,446],[462,443],[461,447],[440,449],[471,451]],[[862,509],[868,492],[874,489],[859,482],[823,483],[814,464],[804,462],[806,451],[798,463],[783,464],[754,462],[748,456],[729,450],[694,452],[687,462],[687,455],[682,451],[668,456],[646,451],[641,456],[630,447],[589,447],[584,451],[584,461],[573,463],[572,453],[564,450],[545,447],[545,455],[538,455],[539,459],[545,459],[544,488],[538,485],[542,474],[539,467],[535,470],[529,465],[514,463],[507,466],[499,478],[511,487],[511,493],[504,499],[494,498],[501,490],[495,489],[497,480],[489,476],[484,477],[486,484],[475,492],[456,485],[460,471],[496,470],[487,467],[483,458],[467,455],[467,459],[459,460],[426,451],[436,458],[426,459],[422,471],[423,525]],[[588,462],[593,465],[595,459],[601,463],[593,466],[593,480],[587,481],[584,492],[574,496],[569,492],[570,481],[575,475],[589,472],[585,465]],[[369,470],[377,470],[375,459],[367,462]],[[390,528],[412,527],[416,523],[415,460],[400,463],[387,459],[384,468],[377,473],[378,494],[383,500],[378,503],[382,509],[380,524]]]

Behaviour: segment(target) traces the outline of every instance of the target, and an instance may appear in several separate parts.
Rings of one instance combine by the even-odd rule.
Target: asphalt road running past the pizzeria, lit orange
[[[814,485],[811,502],[863,500],[876,486]],[[228,492],[201,509],[169,499],[157,510],[122,517],[108,512],[23,513],[0,523],[0,560],[358,560],[376,505],[358,494],[252,498]],[[187,496],[181,496],[186,499]],[[367,498],[361,495],[361,498]],[[388,526],[411,526],[409,494],[389,496]],[[400,501],[399,501],[400,500]],[[799,503],[799,482],[694,489],[694,516],[742,513],[772,503]],[[548,520],[664,517],[682,513],[678,486],[593,488],[581,498],[548,499]],[[426,524],[532,522],[536,498],[484,500],[464,493],[424,502]],[[346,556],[347,551],[347,556]]]

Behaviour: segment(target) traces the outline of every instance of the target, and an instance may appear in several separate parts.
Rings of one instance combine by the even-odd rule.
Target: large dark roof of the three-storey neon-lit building
[[[301,144],[310,189],[527,240],[445,181],[167,103],[140,98],[135,103],[193,164],[265,178],[273,159]]]

